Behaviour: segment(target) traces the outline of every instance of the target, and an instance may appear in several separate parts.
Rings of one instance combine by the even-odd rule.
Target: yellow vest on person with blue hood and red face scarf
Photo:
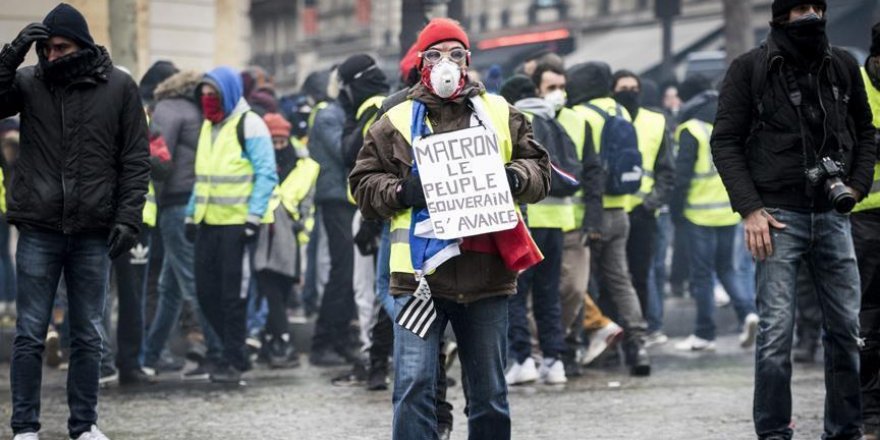
[[[205,120],[196,150],[196,209],[193,220],[209,225],[243,225],[254,189],[254,168],[238,141],[239,120],[247,112],[229,118],[211,141],[213,124]],[[263,223],[275,221],[267,209]]]

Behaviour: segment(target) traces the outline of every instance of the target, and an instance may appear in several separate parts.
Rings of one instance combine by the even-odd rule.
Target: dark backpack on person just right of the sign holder
[[[583,165],[577,157],[577,150],[565,129],[555,119],[532,118],[532,131],[537,140],[550,154],[553,164],[550,176],[550,195],[568,197],[580,187]],[[564,173],[565,175],[562,175]]]

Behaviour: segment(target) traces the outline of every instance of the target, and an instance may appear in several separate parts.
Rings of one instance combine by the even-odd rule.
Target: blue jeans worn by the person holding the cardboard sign
[[[411,298],[394,298],[394,316]],[[510,408],[504,369],[507,360],[507,297],[469,304],[434,299],[437,320],[425,339],[394,324],[395,440],[437,438],[436,384],[440,338],[452,324],[468,397],[469,439],[510,439]]]

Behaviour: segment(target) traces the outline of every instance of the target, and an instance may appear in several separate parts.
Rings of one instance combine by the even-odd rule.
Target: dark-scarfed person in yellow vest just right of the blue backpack
[[[672,187],[675,185],[671,137],[666,129],[666,116],[642,106],[642,81],[638,75],[628,70],[619,70],[614,74],[611,88],[614,99],[633,118],[645,170],[642,187],[629,199],[630,205],[627,207],[630,233],[626,241],[626,257],[633,287],[648,321],[645,342],[654,345],[666,339],[661,332],[663,299],[659,297],[662,292],[651,292],[648,288],[648,273],[654,259],[657,213],[669,203]],[[656,296],[650,297],[650,293]]]

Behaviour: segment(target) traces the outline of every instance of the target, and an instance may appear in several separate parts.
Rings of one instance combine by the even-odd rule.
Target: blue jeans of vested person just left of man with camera
[[[699,226],[688,222],[691,258],[691,295],[697,302],[697,326],[694,334],[715,340],[715,278],[730,295],[739,322],[755,313],[755,297],[748,294],[742,273],[737,271],[736,234],[733,226]]]

